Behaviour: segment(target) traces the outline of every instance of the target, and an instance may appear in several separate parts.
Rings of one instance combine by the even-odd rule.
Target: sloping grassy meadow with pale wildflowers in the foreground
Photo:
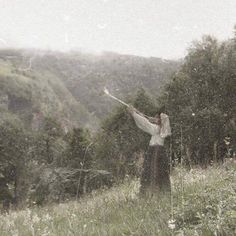
[[[138,197],[127,180],[78,202],[0,215],[1,236],[236,235],[236,163],[172,173],[168,197]]]

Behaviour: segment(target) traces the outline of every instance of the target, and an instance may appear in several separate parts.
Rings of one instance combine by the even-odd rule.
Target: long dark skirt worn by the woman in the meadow
[[[170,192],[169,159],[163,146],[149,146],[143,163],[140,193]]]

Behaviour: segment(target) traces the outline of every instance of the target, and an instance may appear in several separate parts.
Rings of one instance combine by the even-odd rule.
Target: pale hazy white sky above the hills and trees
[[[233,36],[236,0],[0,0],[0,47],[180,58]]]

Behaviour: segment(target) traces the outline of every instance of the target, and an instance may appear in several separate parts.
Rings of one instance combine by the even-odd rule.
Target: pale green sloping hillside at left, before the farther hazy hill
[[[21,70],[18,63],[7,56],[0,59],[2,112],[18,115],[27,125],[36,113],[57,117],[65,126],[86,126],[96,121],[53,73]]]

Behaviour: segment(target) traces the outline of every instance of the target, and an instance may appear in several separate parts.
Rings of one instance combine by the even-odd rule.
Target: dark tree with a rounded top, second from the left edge
[[[42,130],[31,133],[31,186],[29,203],[44,204],[65,199],[64,174],[67,140],[59,122],[46,117]]]

